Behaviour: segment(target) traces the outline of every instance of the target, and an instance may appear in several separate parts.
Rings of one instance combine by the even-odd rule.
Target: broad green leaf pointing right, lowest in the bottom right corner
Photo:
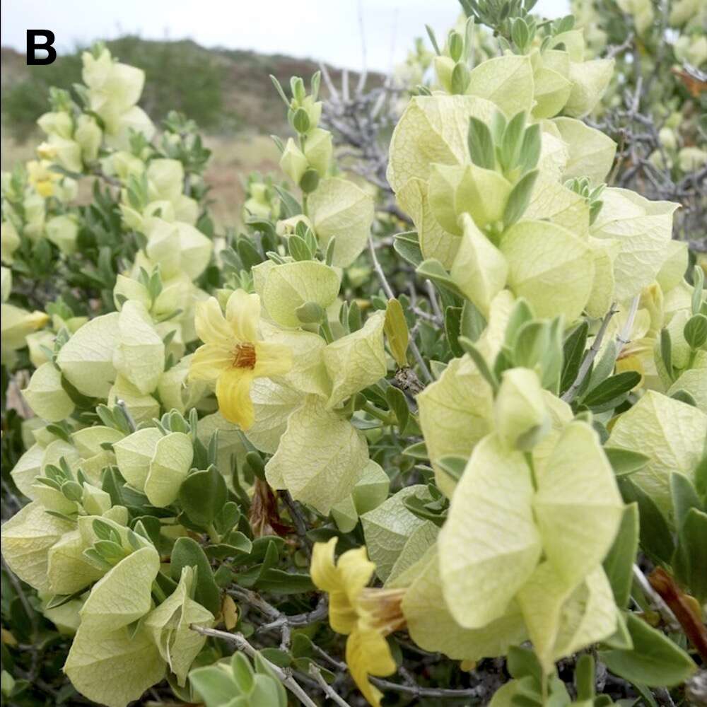
[[[598,654],[611,672],[650,687],[679,685],[695,672],[690,656],[660,631],[634,614],[627,615],[626,626],[633,650],[604,650]]]

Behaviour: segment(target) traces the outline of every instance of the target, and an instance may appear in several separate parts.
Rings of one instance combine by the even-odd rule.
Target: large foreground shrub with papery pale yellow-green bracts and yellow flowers
[[[274,81],[289,184],[226,234],[141,71],[99,45],[52,93],[2,179],[13,703],[704,699],[704,271],[583,121],[614,60],[464,7],[390,213],[320,74]]]

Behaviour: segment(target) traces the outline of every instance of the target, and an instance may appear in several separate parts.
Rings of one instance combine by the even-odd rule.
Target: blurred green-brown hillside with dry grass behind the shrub
[[[317,62],[281,54],[265,55],[238,49],[206,49],[191,40],[156,41],[128,35],[106,42],[114,57],[139,66],[146,74],[140,101],[156,124],[170,110],[196,120],[212,151],[206,177],[213,187],[214,215],[234,223],[243,203],[241,181],[252,170],[277,169],[278,153],[271,134],[286,136],[290,129],[284,105],[269,74],[284,85],[291,76],[309,79]],[[27,66],[14,49],[0,49],[2,98],[2,160],[8,170],[32,158],[40,134],[37,118],[49,110],[49,87],[71,90],[81,82],[81,52],[76,47],[47,66]],[[334,83],[340,69],[330,69]],[[380,81],[370,76],[370,81]]]

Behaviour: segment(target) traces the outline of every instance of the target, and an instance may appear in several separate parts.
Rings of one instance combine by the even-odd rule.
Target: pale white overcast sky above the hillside
[[[350,69],[361,67],[362,20],[366,64],[378,71],[402,61],[425,24],[444,37],[460,13],[456,0],[1,0],[1,7],[1,43],[21,52],[28,29],[52,30],[60,53],[134,33]],[[568,0],[539,0],[535,11],[559,17]]]

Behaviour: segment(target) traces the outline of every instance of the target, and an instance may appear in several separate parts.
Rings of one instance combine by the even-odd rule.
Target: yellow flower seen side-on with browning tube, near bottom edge
[[[346,663],[363,696],[380,707],[382,692],[368,680],[395,672],[395,660],[385,636],[405,624],[401,602],[405,590],[368,588],[375,564],[366,547],[348,550],[334,563],[337,538],[315,543],[312,582],[329,594],[329,624],[346,640]]]

